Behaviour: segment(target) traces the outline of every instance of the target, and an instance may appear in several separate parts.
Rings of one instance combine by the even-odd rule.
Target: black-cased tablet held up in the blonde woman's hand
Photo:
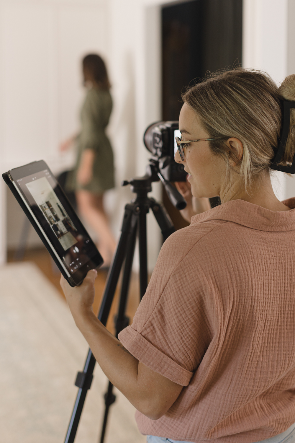
[[[2,176],[61,274],[79,285],[103,259],[47,164],[40,160]]]

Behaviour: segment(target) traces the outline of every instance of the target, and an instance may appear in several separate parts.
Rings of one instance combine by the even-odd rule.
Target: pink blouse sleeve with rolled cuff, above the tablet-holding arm
[[[200,233],[192,247],[185,229],[165,241],[133,323],[119,334],[135,358],[183,386],[189,384],[212,338],[202,284],[189,272]]]

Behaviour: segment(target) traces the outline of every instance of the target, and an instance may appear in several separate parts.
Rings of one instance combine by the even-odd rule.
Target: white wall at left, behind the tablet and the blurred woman
[[[106,9],[104,0],[0,2],[1,173],[38,159],[54,173],[73,164],[73,152],[60,155],[58,144],[79,129],[81,58],[90,51],[107,58]],[[6,256],[7,191],[1,180],[0,262]],[[9,246],[15,247],[23,214],[9,208]],[[34,235],[29,242],[39,244]]]

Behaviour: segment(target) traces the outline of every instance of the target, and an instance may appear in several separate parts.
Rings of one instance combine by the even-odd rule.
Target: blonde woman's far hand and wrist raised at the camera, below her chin
[[[194,215],[211,209],[209,198],[196,198],[192,195],[192,187],[188,182],[188,177],[185,182],[175,182],[175,186],[187,202],[187,206],[180,211],[184,220],[190,223]]]

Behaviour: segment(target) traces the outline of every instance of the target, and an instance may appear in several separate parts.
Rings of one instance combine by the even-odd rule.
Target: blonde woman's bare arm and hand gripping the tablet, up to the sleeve
[[[111,383],[138,411],[157,420],[172,406],[183,386],[138,361],[94,315],[92,303],[96,275],[96,271],[89,271],[76,288],[61,277],[61,288],[73,318]]]

